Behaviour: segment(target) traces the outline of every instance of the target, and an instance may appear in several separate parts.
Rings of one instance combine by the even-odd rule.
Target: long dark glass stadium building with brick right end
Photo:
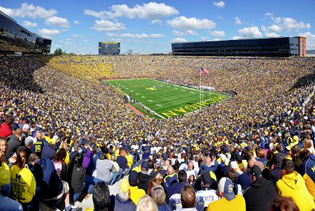
[[[303,36],[172,43],[173,55],[288,57],[306,56],[306,50]]]

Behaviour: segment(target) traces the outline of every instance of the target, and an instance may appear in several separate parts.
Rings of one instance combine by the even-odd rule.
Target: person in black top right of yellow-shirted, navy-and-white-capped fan
[[[251,186],[244,192],[246,210],[269,211],[272,201],[276,198],[276,189],[271,181],[262,177],[257,165],[251,168]]]

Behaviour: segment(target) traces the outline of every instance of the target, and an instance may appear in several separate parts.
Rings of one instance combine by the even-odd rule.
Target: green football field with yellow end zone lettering
[[[203,91],[203,100],[200,102],[200,90],[175,86],[154,79],[106,81],[154,111],[158,118],[187,114],[230,97],[223,93]]]

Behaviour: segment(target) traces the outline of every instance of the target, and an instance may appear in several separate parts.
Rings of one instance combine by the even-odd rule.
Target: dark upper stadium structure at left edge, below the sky
[[[38,36],[0,11],[0,55],[50,53],[51,40]]]

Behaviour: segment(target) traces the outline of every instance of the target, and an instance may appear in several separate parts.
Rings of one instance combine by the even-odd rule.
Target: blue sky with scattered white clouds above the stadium
[[[297,5],[300,3],[300,5]],[[121,53],[169,53],[171,43],[307,36],[315,49],[315,0],[0,1],[0,10],[52,39],[52,52],[97,53],[120,41]]]

